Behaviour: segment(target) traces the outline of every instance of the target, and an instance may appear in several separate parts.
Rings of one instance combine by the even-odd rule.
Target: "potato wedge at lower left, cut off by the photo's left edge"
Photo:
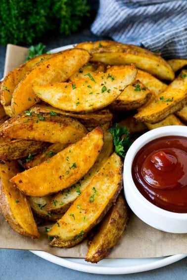
[[[15,232],[32,239],[39,238],[27,198],[9,182],[19,171],[15,161],[0,163],[0,211]]]

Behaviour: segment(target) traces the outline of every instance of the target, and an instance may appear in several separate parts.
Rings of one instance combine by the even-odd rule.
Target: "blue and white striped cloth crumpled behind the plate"
[[[91,31],[187,59],[187,0],[100,0]]]

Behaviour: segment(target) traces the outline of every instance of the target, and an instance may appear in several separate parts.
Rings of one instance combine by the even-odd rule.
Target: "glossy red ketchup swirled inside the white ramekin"
[[[143,146],[133,161],[132,176],[147,200],[187,213],[187,137],[166,136]]]

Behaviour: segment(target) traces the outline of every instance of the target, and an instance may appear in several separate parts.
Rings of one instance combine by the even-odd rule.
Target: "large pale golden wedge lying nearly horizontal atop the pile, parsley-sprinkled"
[[[70,112],[93,112],[113,102],[137,74],[133,66],[109,73],[90,73],[74,82],[35,85],[35,94],[48,104]]]

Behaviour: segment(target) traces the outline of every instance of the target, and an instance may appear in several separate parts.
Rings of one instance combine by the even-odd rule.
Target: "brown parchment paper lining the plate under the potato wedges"
[[[21,63],[28,49],[8,44],[4,75]],[[56,248],[49,245],[46,227],[40,227],[40,239],[31,240],[15,233],[0,214],[0,247],[9,249],[42,250],[61,257],[85,258],[87,240],[73,248]],[[108,258],[150,258],[187,254],[187,234],[171,234],[156,230],[131,213],[127,230],[120,243]]]

